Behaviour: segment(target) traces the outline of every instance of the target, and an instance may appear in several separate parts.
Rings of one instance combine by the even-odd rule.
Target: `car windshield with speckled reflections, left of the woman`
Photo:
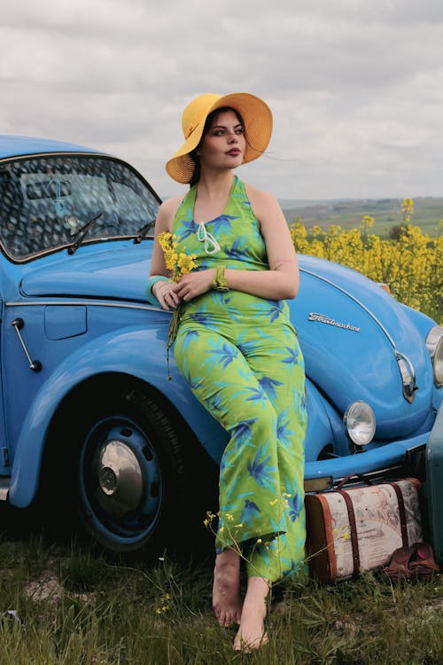
[[[0,237],[14,259],[72,243],[100,212],[85,242],[137,236],[158,208],[149,185],[118,160],[58,154],[0,164]]]

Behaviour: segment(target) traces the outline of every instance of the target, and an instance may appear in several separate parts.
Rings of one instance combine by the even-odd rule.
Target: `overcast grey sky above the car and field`
[[[441,196],[443,0],[1,0],[0,132],[114,153],[160,196],[204,92],[252,92],[279,199]]]

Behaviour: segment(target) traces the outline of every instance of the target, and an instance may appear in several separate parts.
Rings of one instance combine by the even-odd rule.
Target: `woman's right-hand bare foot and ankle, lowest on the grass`
[[[248,577],[240,627],[234,640],[236,651],[252,651],[268,643],[265,632],[266,597],[269,585],[262,577]]]

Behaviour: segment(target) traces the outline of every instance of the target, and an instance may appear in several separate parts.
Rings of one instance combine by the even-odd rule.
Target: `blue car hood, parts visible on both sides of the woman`
[[[28,264],[20,290],[26,296],[146,303],[151,251],[149,241],[84,246],[72,256],[55,255],[49,265]],[[432,375],[409,309],[354,270],[310,256],[299,256],[299,264],[299,294],[290,308],[308,378],[340,412],[355,400],[369,403],[378,439],[415,432],[430,411]],[[412,403],[403,396],[396,352],[416,372]]]

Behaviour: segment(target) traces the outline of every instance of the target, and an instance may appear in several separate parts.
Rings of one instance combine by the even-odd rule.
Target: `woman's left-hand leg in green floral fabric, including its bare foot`
[[[270,534],[276,522],[276,413],[245,357],[218,332],[181,325],[175,360],[194,395],[231,435],[221,459],[213,595],[219,622],[229,625],[240,618],[242,543]]]

